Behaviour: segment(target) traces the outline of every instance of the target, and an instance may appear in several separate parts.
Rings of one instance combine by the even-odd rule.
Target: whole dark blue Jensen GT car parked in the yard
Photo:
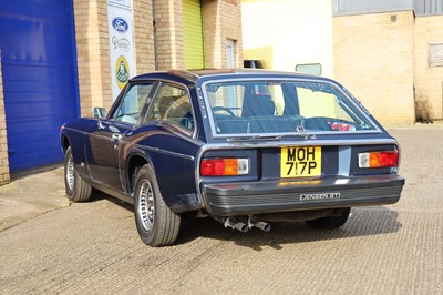
[[[246,232],[319,228],[352,206],[392,204],[398,142],[343,87],[264,70],[133,78],[105,118],[62,126],[69,199],[92,187],[134,204],[144,243],[173,244],[184,213]]]

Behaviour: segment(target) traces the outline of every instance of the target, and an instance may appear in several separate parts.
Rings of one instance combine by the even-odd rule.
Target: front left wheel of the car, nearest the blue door
[[[64,154],[64,185],[68,199],[72,202],[86,202],[91,199],[92,187],[76,172],[71,146]]]

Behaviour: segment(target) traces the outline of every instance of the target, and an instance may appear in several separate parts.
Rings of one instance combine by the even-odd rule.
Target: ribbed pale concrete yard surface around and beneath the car
[[[132,206],[70,204],[62,167],[0,186],[0,294],[443,294],[443,125],[391,129],[400,202],[339,230],[246,234],[190,222],[177,245],[138,238]]]

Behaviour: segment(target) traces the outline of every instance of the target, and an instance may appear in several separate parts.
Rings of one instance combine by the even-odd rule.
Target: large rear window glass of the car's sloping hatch
[[[227,81],[204,85],[216,134],[375,130],[336,85],[317,81]]]

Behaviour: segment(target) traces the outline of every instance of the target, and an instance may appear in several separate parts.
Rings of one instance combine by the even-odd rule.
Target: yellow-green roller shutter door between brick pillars
[[[185,47],[185,68],[205,68],[203,41],[203,14],[200,0],[183,0],[183,34]]]

